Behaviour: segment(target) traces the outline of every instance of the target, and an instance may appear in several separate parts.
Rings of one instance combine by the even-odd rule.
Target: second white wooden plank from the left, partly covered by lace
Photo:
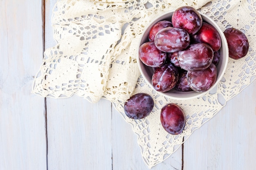
[[[45,4],[45,48],[56,45],[51,24],[56,1]],[[76,95],[46,101],[48,169],[112,170],[111,103],[91,104]]]

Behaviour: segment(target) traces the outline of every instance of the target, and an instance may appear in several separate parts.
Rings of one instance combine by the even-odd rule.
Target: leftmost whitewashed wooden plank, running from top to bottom
[[[0,0],[0,169],[46,170],[44,99],[31,93],[43,59],[41,3]]]

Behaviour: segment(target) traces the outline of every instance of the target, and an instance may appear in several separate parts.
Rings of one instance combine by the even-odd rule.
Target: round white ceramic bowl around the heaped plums
[[[141,44],[143,44],[144,42],[148,41],[148,33],[150,31],[150,28],[157,22],[161,21],[161,20],[169,20],[171,21],[171,16],[173,15],[173,11],[168,11],[166,13],[163,13],[162,15],[159,15],[157,18],[155,18],[155,20],[153,20],[152,22],[150,22],[150,24],[145,28],[145,30],[143,31],[141,38],[139,40],[139,46],[141,46]],[[199,92],[195,92],[195,91],[189,91],[189,92],[181,92],[181,91],[176,91],[174,88],[171,89],[170,91],[167,92],[158,92],[166,97],[169,97],[171,99],[180,99],[180,100],[184,100],[184,99],[193,99],[193,98],[197,98],[200,97],[206,93],[209,93],[209,91],[211,91],[213,88],[215,88],[217,86],[217,84],[220,82],[220,80],[222,79],[226,68],[227,68],[227,63],[228,63],[228,59],[229,59],[229,50],[228,50],[228,46],[227,46],[227,40],[225,38],[225,35],[223,34],[223,31],[220,29],[220,27],[216,24],[216,22],[214,22],[211,18],[209,18],[207,15],[205,15],[204,13],[199,12],[202,16],[202,20],[203,22],[207,22],[208,24],[211,24],[212,26],[214,26],[214,28],[217,29],[217,31],[220,33],[220,37],[221,37],[221,47],[220,47],[220,61],[217,64],[217,71],[218,71],[218,75],[217,75],[217,79],[216,79],[216,83],[211,86],[211,88],[209,88],[208,91],[199,93]],[[137,47],[139,49],[139,46]],[[139,50],[138,50],[139,51]],[[140,59],[139,59],[139,54],[137,54],[137,61],[139,64],[139,70],[141,72],[141,75],[144,77],[145,81],[153,88],[152,84],[151,84],[151,78],[152,75],[154,73],[154,68],[150,67],[150,66],[146,66],[145,64],[143,64]],[[153,88],[154,89],[154,88]]]

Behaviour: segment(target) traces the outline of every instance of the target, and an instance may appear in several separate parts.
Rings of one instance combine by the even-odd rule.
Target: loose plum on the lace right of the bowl
[[[228,28],[224,32],[229,47],[229,57],[238,60],[248,53],[249,42],[246,35],[235,28]]]

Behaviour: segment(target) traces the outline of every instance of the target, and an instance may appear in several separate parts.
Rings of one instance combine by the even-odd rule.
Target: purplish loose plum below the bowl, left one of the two
[[[124,104],[124,113],[131,119],[143,119],[154,107],[153,98],[146,93],[132,95]]]

